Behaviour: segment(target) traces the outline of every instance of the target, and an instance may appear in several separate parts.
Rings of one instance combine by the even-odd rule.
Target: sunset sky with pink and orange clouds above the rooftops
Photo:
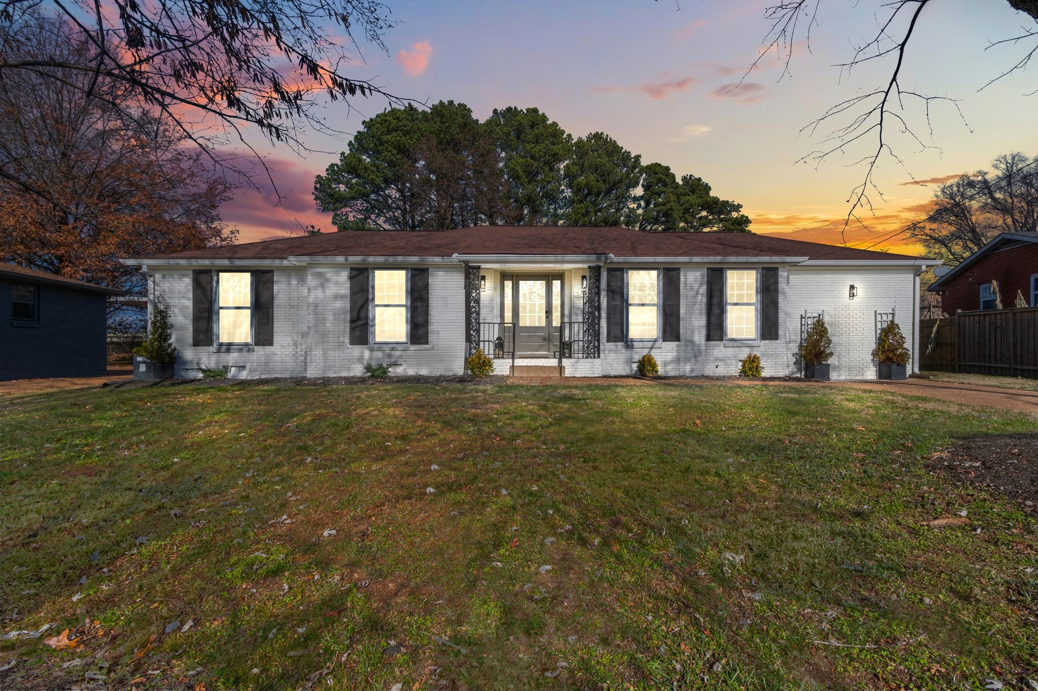
[[[425,103],[456,100],[485,119],[494,108],[537,107],[574,137],[602,131],[643,163],[658,161],[679,176],[693,173],[714,193],[743,204],[758,233],[840,243],[846,200],[864,170],[857,155],[834,156],[816,169],[796,162],[822,146],[800,129],[834,104],[885,84],[890,61],[855,68],[834,66],[852,54],[851,44],[875,34],[885,18],[881,3],[828,0],[821,4],[810,52],[797,45],[791,75],[767,56],[762,68],[737,86],[762,49],[770,2],[753,0],[388,0],[399,22],[385,36],[388,54],[362,45],[347,74],[370,79],[394,95]],[[855,5],[856,6],[853,6]],[[988,166],[1013,150],[1038,155],[1038,73],[1016,73],[985,88],[1030,50],[991,41],[1022,33],[1033,21],[1005,0],[943,0],[924,10],[902,70],[906,90],[960,99],[962,117],[947,104],[931,106],[932,138],[925,113],[909,108],[907,122],[924,143],[900,135],[892,142],[904,168],[886,157],[876,175],[885,200],[877,202],[870,229],[851,226],[846,241],[868,247],[883,230],[917,218],[933,193],[917,180],[938,181]],[[242,241],[283,236],[313,224],[332,230],[319,213],[313,176],[337,159],[364,117],[386,107],[380,98],[353,102],[349,114],[329,105],[325,117],[338,138],[307,135],[313,152],[300,157],[260,147],[282,194],[269,185],[242,190],[224,207],[224,219],[242,230]],[[963,117],[965,122],[963,122]],[[875,146],[870,139],[868,146]],[[917,253],[897,238],[879,247]]]

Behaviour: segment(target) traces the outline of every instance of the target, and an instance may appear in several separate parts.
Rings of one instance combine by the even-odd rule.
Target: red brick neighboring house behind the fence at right
[[[928,290],[940,293],[940,309],[950,316],[994,310],[999,295],[1003,308],[1014,307],[1017,291],[1028,307],[1038,307],[1038,233],[1000,234]]]

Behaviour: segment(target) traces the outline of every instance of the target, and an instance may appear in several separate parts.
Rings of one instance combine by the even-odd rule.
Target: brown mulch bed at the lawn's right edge
[[[930,454],[927,463],[959,482],[1015,499],[1025,511],[1038,511],[1038,434],[960,439]]]

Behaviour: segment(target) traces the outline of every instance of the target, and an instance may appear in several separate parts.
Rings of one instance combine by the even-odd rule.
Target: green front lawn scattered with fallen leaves
[[[923,457],[1034,429],[826,386],[10,397],[3,632],[54,627],[0,686],[1027,688],[1038,527]]]

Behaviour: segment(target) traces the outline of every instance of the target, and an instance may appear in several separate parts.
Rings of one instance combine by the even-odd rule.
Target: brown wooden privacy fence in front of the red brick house
[[[920,322],[922,369],[1038,378],[1038,308],[959,312],[936,334],[935,322]]]

